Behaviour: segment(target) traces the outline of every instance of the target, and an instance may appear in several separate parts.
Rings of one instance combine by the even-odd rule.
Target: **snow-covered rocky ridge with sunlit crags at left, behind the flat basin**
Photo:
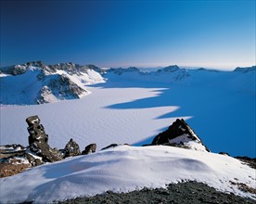
[[[32,105],[81,98],[90,94],[86,85],[104,83],[93,65],[61,63],[46,66],[30,62],[1,69],[1,104]]]

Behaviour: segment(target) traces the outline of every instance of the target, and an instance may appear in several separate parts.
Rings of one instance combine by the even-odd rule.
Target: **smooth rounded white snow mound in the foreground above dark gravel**
[[[2,203],[36,203],[198,181],[255,199],[230,182],[255,187],[255,170],[224,155],[179,147],[115,147],[0,179]]]

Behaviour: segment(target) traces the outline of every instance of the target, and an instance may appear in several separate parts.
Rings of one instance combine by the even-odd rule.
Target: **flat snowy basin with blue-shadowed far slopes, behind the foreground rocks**
[[[104,77],[106,83],[86,85],[92,94],[78,100],[0,107],[1,145],[26,146],[25,119],[32,115],[41,119],[51,147],[63,148],[72,137],[81,149],[148,144],[183,118],[212,152],[256,157],[255,71],[167,69]]]

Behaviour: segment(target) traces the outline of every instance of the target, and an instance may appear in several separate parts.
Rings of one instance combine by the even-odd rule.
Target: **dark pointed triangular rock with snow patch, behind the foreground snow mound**
[[[200,151],[210,151],[203,145],[198,135],[183,119],[177,119],[169,128],[158,134],[151,145],[191,148]]]

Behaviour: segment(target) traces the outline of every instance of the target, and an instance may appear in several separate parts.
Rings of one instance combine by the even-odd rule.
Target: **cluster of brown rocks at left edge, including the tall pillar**
[[[27,118],[26,121],[30,134],[28,147],[20,145],[0,146],[0,178],[24,172],[45,162],[55,162],[81,155],[79,145],[72,138],[64,149],[50,147],[48,134],[45,134],[45,128],[43,124],[40,124],[37,115]],[[91,144],[88,147],[85,147],[86,154],[96,152],[96,144]]]

